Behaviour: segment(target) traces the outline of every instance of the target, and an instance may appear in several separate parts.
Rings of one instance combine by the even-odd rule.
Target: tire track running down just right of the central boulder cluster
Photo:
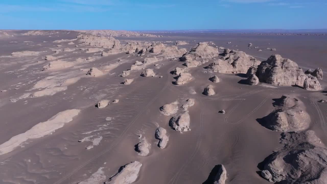
[[[202,111],[202,107],[203,107],[203,101],[201,99],[197,99],[200,103],[201,103],[201,112],[200,112],[200,130],[198,130],[198,138],[197,138],[197,144],[195,149],[193,150],[190,158],[188,158],[186,160],[186,162],[182,165],[182,167],[177,171],[177,173],[169,180],[169,183],[177,183],[178,179],[181,176],[181,173],[185,170],[186,166],[193,160],[193,158],[197,155],[198,151],[200,150],[200,146],[202,143],[202,135],[203,135],[203,111]]]

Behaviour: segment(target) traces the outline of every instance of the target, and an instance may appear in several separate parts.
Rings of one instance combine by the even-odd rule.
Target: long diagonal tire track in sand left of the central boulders
[[[175,65],[174,65],[175,66]],[[98,155],[93,156],[92,158],[90,158],[89,160],[87,160],[86,162],[84,162],[83,164],[81,164],[79,167],[77,167],[76,169],[72,170],[71,172],[69,172],[66,176],[60,178],[60,180],[56,181],[54,184],[60,184],[63,181],[65,181],[66,179],[68,179],[69,177],[71,177],[73,174],[75,174],[78,170],[80,170],[81,168],[85,167],[87,164],[91,163],[93,160],[95,160],[96,158],[103,156],[104,154],[106,154],[107,152],[109,152],[110,150],[112,150],[112,148],[114,148],[121,140],[122,138],[125,136],[125,134],[127,133],[127,131],[130,129],[130,127],[135,123],[135,121],[143,114],[143,112],[147,109],[147,107],[149,107],[153,101],[155,101],[159,95],[161,95],[163,93],[163,91],[168,87],[169,83],[171,82],[171,76],[169,75],[169,72],[172,70],[171,67],[168,69],[168,71],[166,72],[168,75],[167,77],[167,81],[166,84],[164,85],[164,87],[158,92],[158,94],[147,103],[147,105],[137,114],[137,116],[129,123],[129,125],[125,128],[125,130],[122,132],[122,134],[117,138],[117,140],[113,143],[112,146],[110,146],[108,149],[100,152]]]

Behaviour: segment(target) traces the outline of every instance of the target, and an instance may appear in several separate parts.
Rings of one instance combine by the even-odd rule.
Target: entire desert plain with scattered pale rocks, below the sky
[[[327,182],[326,34],[0,35],[0,183]]]

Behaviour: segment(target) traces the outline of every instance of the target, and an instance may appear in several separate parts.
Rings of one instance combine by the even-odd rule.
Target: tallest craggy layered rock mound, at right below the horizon
[[[263,61],[258,66],[257,76],[260,82],[281,86],[303,86],[307,78],[298,64],[279,54],[273,54]]]

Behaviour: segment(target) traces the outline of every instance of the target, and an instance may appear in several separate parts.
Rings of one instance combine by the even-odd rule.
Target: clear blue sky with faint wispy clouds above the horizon
[[[0,0],[0,29],[271,28],[327,28],[327,0]]]

